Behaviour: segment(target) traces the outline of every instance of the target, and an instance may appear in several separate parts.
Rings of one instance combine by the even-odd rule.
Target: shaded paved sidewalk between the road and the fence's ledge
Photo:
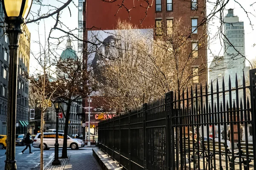
[[[67,159],[61,159],[60,156],[59,160],[61,161],[61,165],[52,165],[52,161],[54,160],[54,158],[52,158],[44,167],[44,170],[102,170],[93,157],[92,148],[85,148],[88,149],[81,151],[69,150]]]

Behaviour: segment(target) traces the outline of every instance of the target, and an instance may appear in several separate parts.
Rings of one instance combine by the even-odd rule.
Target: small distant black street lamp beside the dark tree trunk
[[[58,160],[58,112],[61,108],[61,101],[56,101],[54,102],[54,108],[55,108],[55,111],[56,111],[56,139],[55,139],[55,154],[54,154],[54,161],[52,161],[52,164],[53,165],[60,165],[61,162],[60,160]]]

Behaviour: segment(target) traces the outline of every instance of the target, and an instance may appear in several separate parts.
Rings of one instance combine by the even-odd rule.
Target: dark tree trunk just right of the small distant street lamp
[[[65,128],[64,128],[64,140],[63,140],[61,158],[67,158],[67,130],[68,130],[69,117],[70,117],[70,106],[71,106],[71,99],[69,99],[67,103],[67,112],[66,112],[66,120],[65,120]]]

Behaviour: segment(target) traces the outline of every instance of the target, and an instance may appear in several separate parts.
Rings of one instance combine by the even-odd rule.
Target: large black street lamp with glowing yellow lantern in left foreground
[[[21,25],[29,14],[32,0],[2,0],[5,23],[9,36],[9,82],[7,110],[7,149],[5,170],[17,170],[15,160],[16,100],[18,74],[18,42],[22,33]]]

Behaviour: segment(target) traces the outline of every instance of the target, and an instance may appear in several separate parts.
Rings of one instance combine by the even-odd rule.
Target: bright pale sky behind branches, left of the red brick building
[[[62,2],[66,2],[62,1]],[[44,3],[48,3],[51,6],[56,6],[56,7],[60,7],[63,4],[62,3],[58,3],[55,0],[44,0]],[[58,27],[64,29],[67,31],[67,28],[65,28],[65,26],[67,26],[70,30],[76,29],[78,28],[78,8],[76,6],[78,6],[78,0],[74,0],[74,3],[70,3],[69,8],[65,8],[63,11],[61,11],[61,22],[63,23],[62,26],[58,25]],[[31,11],[37,11],[38,10],[38,6],[36,6],[35,4],[32,4],[32,8]],[[48,8],[42,8],[42,11],[48,11]],[[71,13],[71,16],[70,16]],[[31,18],[31,15],[29,16]],[[28,17],[28,18],[29,18]],[[35,60],[35,58],[33,57],[33,54],[38,54],[39,52],[39,45],[38,42],[39,40],[41,41],[41,44],[45,44],[48,36],[49,36],[49,31],[50,29],[55,25],[55,20],[52,17],[49,17],[47,19],[44,20],[40,20],[39,23],[29,23],[27,24],[29,31],[31,33],[31,38],[30,38],[30,64],[29,64],[29,72],[30,74],[34,74],[35,72],[37,72],[37,70],[40,68],[40,66],[38,65],[37,61]],[[74,34],[78,34],[78,31],[73,31]],[[52,33],[52,37],[61,37],[61,36],[65,36],[66,34],[64,34],[61,31],[54,31]],[[39,39],[40,37],[40,39]],[[59,45],[59,50],[55,51],[56,53],[58,53],[58,55],[61,55],[62,50],[65,49],[66,47],[66,43],[67,43],[67,38],[65,37],[61,42],[61,44]],[[56,39],[51,39],[51,42],[57,42]],[[77,50],[77,41],[73,41],[73,49]],[[37,55],[38,56],[38,55]]]

